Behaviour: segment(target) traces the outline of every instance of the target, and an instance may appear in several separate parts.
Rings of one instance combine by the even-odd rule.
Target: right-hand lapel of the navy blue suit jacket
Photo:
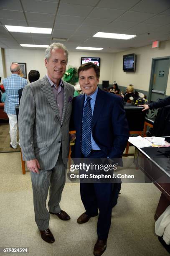
[[[98,89],[96,101],[95,101],[95,105],[94,105],[93,116],[92,116],[92,120],[91,120],[91,131],[93,130],[94,125],[100,116],[103,105],[104,105],[104,99],[102,97],[102,91],[101,91],[101,89]]]

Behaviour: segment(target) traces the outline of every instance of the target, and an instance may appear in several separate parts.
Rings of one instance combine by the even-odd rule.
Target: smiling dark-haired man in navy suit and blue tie
[[[79,84],[84,95],[74,97],[72,122],[76,130],[74,158],[121,158],[129,138],[129,129],[121,97],[98,88],[100,69],[89,62],[78,69]],[[112,217],[112,184],[81,183],[81,200],[86,212],[77,219],[86,223],[98,215],[98,239],[94,255],[107,246]]]

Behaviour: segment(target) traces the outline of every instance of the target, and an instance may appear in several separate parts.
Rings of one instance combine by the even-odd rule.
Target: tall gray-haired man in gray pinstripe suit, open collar
[[[24,88],[19,110],[20,145],[23,160],[30,170],[35,220],[42,239],[48,243],[55,241],[48,228],[50,213],[61,220],[70,219],[59,205],[66,179],[74,95],[74,87],[61,79],[67,61],[68,51],[63,44],[48,46],[45,52],[47,74]]]

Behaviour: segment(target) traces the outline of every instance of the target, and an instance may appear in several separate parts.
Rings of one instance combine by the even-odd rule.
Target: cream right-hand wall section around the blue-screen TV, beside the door
[[[123,55],[137,54],[136,72],[123,72]],[[114,68],[112,80],[116,80],[119,85],[127,86],[133,84],[135,89],[149,90],[152,58],[170,56],[170,41],[162,41],[160,48],[152,49],[152,46],[134,48],[129,51],[122,51],[114,54]],[[167,82],[166,95],[170,95],[170,73]]]

